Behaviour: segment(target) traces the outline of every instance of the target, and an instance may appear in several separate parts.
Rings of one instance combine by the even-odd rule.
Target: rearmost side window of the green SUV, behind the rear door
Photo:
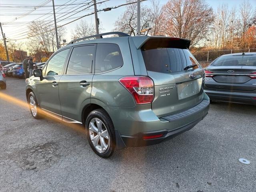
[[[107,72],[123,66],[123,58],[117,44],[98,43],[95,60],[95,73]]]

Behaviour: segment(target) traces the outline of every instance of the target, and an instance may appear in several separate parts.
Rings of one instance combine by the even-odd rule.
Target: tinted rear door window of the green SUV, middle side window
[[[74,47],[68,62],[66,74],[92,73],[94,45]]]

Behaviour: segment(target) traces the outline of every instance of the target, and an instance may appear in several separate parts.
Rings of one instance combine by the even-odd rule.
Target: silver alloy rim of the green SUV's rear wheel
[[[93,118],[89,124],[90,139],[94,148],[100,153],[105,152],[110,145],[110,137],[102,120]]]

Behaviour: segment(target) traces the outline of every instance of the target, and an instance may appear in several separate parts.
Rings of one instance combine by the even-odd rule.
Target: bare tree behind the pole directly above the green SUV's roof
[[[132,0],[127,0],[127,2],[132,2]],[[141,26],[139,30],[142,30],[148,22],[152,25],[154,14],[150,8],[142,5],[140,8],[140,15]],[[133,36],[137,34],[137,4],[129,4],[126,6],[126,10],[116,20],[114,30],[122,31]]]

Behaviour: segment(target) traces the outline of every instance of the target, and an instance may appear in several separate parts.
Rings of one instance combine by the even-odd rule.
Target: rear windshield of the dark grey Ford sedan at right
[[[212,66],[256,66],[256,55],[222,56]]]

